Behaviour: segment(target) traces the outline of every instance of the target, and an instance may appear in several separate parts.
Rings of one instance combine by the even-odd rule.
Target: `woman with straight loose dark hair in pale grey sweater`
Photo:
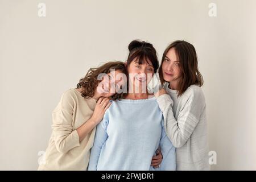
[[[177,170],[209,170],[203,77],[192,44],[177,40],[163,53],[155,94],[166,134],[176,147]]]

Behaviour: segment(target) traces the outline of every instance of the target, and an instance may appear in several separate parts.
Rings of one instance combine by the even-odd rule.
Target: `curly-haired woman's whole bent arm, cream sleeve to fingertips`
[[[98,117],[88,119],[77,130],[73,130],[72,116],[75,100],[70,92],[64,93],[60,103],[52,112],[52,130],[57,151],[66,153],[72,148],[80,146],[80,141],[101,121],[106,109],[110,106],[110,102],[109,104],[108,102],[108,98],[104,100],[101,98],[93,113],[93,115],[97,115]]]

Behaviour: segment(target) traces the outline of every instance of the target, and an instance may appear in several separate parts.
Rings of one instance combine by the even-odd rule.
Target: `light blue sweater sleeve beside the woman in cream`
[[[106,116],[106,113],[105,113],[105,116]],[[108,119],[104,117],[104,119],[98,124],[96,129],[96,135],[94,138],[93,147],[92,147],[92,150],[90,151],[88,171],[97,171],[98,160],[101,154],[101,148],[104,146],[106,140],[108,139],[108,134],[106,132],[107,127],[108,127]]]

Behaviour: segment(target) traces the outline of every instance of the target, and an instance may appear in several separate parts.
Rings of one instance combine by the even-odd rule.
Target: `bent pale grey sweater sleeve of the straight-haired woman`
[[[205,107],[203,93],[200,90],[191,89],[191,94],[185,100],[182,100],[183,106],[177,120],[172,111],[173,101],[168,94],[159,96],[157,101],[163,113],[164,127],[168,138],[170,138],[174,147],[183,146],[195,130],[201,111]]]

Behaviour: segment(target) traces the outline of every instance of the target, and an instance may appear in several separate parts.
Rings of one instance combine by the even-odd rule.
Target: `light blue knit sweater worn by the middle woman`
[[[160,168],[150,166],[160,146]],[[88,170],[175,170],[176,153],[155,99],[113,101],[98,124]]]

